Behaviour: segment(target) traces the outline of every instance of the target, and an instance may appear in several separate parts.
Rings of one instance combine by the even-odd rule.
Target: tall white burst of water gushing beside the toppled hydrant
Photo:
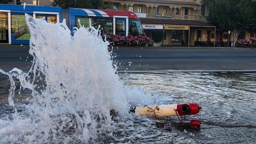
[[[15,108],[15,80],[20,90],[32,90],[25,111],[0,119],[0,143],[88,143],[118,129],[119,120],[131,116],[131,105],[152,104],[151,94],[130,89],[113,68],[99,28],[76,28],[74,36],[63,23],[49,24],[26,15],[30,28],[33,65],[28,73],[17,68],[0,72],[9,76],[9,105]],[[22,88],[21,88],[22,87]]]

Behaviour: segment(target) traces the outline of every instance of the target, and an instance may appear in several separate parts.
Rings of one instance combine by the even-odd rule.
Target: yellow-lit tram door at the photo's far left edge
[[[0,12],[0,43],[8,42],[8,13]]]

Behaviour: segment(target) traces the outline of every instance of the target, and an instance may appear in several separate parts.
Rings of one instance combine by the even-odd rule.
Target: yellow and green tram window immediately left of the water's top
[[[29,14],[33,17],[33,14]],[[30,40],[24,13],[11,13],[11,33],[15,40]]]

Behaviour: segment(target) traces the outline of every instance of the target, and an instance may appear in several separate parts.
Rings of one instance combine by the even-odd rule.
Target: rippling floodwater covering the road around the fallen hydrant
[[[9,81],[0,76],[1,118],[11,113],[7,106]],[[156,127],[154,118],[131,116],[114,136],[104,136],[103,143],[180,143],[180,144],[254,144],[256,143],[256,73],[255,72],[150,72],[119,73],[126,85],[137,86],[154,95],[156,104],[195,102],[202,111],[187,116],[187,121],[202,121],[200,131],[178,123],[178,118],[158,119],[165,128]],[[19,83],[17,83],[19,85]],[[16,90],[16,105],[28,99],[29,91]],[[102,139],[99,140],[102,142]]]

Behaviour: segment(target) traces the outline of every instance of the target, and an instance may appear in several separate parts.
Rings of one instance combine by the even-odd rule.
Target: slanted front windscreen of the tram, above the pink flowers
[[[135,36],[143,34],[143,28],[139,19],[129,19],[129,34]]]

